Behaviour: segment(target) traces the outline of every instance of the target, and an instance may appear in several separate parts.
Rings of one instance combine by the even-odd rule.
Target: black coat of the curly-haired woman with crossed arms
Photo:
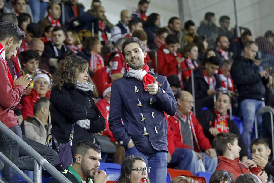
[[[83,119],[90,120],[90,129],[81,128],[75,124],[72,152],[77,142],[81,140],[95,142],[94,132],[100,132],[105,128],[105,119],[92,97],[92,91],[76,89],[74,84],[65,84],[61,90],[56,87],[51,90],[51,134],[56,137],[58,143],[68,142],[74,122]]]

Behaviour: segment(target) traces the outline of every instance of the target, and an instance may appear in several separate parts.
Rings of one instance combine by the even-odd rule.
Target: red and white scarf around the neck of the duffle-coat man
[[[149,74],[149,66],[146,63],[145,66],[140,70],[132,69],[127,65],[127,73],[130,77],[135,77],[136,79],[143,81],[145,91],[148,91],[147,85],[153,83],[154,77]],[[157,85],[159,85],[158,82]]]

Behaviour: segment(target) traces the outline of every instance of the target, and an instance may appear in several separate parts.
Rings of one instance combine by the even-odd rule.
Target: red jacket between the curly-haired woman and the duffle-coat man
[[[102,116],[105,118],[107,130],[104,130],[103,134],[107,135],[110,138],[111,141],[115,142],[116,140],[115,140],[115,138],[114,138],[112,132],[110,131],[109,126],[108,126],[108,115],[109,115],[109,106],[110,106],[109,101],[107,101],[106,99],[101,99],[96,104],[96,106],[100,110]]]

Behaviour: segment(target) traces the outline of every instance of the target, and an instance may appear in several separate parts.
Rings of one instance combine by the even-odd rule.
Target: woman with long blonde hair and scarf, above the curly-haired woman
[[[66,39],[64,41],[66,47],[73,51],[75,54],[82,51],[82,43],[78,37],[78,34],[73,30],[66,32]]]

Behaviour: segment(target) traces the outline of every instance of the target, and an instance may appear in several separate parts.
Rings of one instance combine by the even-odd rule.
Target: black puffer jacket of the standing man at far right
[[[239,91],[239,102],[245,99],[265,100],[265,85],[269,78],[262,78],[253,60],[237,57],[231,66],[231,76]]]

